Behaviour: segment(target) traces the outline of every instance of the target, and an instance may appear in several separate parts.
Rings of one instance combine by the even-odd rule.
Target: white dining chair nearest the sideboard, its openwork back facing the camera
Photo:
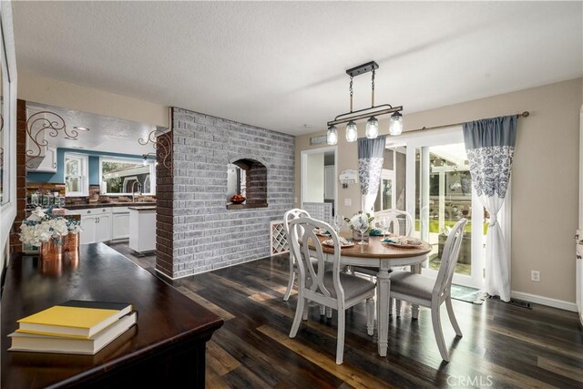
[[[325,271],[324,252],[322,243],[314,233],[314,229],[326,229],[331,231],[333,243],[332,271]],[[292,252],[298,264],[298,304],[295,309],[295,317],[292,323],[290,337],[294,338],[298,333],[302,318],[308,319],[308,302],[332,308],[338,312],[338,333],[336,335],[336,363],[343,363],[344,354],[344,327],[345,311],[353,305],[366,301],[367,333],[373,335],[374,329],[374,282],[364,280],[352,274],[342,272],[340,263],[340,242],[336,231],[332,227],[319,220],[300,218],[290,222],[290,236]],[[315,256],[310,253],[309,243],[312,242]],[[302,244],[300,244],[300,242]],[[311,258],[317,260],[314,268]]]

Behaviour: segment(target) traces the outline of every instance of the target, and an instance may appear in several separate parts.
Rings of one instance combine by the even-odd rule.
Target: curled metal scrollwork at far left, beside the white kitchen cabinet
[[[32,114],[26,119],[26,135],[30,138],[26,149],[26,167],[32,168],[29,162],[32,159],[40,157],[43,149],[48,148],[48,140],[46,135],[51,138],[56,138],[59,133],[65,134],[65,138],[69,140],[77,140],[80,131],[88,131],[89,128],[73,128],[69,130],[66,128],[65,119],[55,112],[40,111]],[[39,138],[41,137],[42,138]]]

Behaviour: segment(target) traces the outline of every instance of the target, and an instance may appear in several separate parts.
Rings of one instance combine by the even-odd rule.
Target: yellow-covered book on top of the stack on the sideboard
[[[16,333],[87,339],[132,311],[127,302],[70,300],[18,320]]]

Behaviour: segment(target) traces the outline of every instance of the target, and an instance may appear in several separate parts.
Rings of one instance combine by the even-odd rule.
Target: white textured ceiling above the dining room
[[[347,111],[344,70],[370,60],[377,104],[405,114],[581,77],[582,6],[13,3],[20,69],[294,135]]]

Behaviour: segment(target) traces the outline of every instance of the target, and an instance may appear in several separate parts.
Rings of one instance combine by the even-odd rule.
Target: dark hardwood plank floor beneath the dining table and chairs
[[[153,271],[153,256],[112,247]],[[382,358],[366,335],[364,305],[357,305],[346,317],[344,363],[336,365],[335,314],[327,320],[312,307],[297,337],[289,338],[296,295],[281,300],[287,279],[288,258],[281,255],[173,282],[225,320],[208,343],[207,387],[583,387],[576,313],[454,301],[464,337],[455,338],[443,307],[451,353],[443,363],[428,310],[412,320],[404,304],[402,316],[391,317]]]

